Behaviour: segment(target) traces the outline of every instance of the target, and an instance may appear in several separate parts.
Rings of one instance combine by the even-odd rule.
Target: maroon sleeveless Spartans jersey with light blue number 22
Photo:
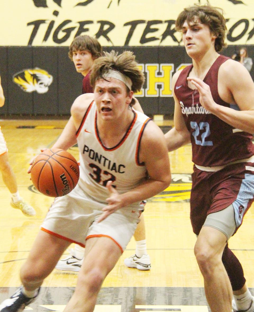
[[[203,80],[210,86],[215,103],[226,107],[230,105],[218,94],[218,71],[228,59],[220,55]],[[190,65],[182,70],[174,89],[186,127],[191,133],[192,161],[200,166],[212,167],[251,157],[254,154],[253,136],[234,129],[204,109],[199,102],[198,91],[188,87],[187,77],[192,67]]]

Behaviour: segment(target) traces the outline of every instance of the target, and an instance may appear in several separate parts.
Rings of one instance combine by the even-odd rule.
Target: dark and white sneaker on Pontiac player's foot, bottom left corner
[[[37,295],[33,298],[28,298],[22,293],[22,287],[19,287],[11,298],[4,300],[0,304],[0,312],[21,312],[35,300]]]

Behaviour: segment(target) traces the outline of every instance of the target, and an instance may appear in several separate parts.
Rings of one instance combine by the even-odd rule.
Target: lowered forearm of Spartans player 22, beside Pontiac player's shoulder
[[[177,131],[176,128],[172,128],[164,136],[169,152],[191,142],[189,131]]]

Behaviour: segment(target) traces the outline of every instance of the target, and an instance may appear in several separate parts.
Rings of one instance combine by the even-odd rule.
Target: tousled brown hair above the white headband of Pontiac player
[[[122,54],[118,55],[118,52],[112,50],[110,53],[104,52],[103,56],[94,61],[90,75],[90,84],[93,88],[95,87],[96,80],[106,80],[103,75],[107,73],[109,69],[119,71],[129,77],[132,80],[132,91],[134,93],[140,91],[145,82],[145,76],[138,68],[133,52],[124,51]],[[126,91],[127,93],[130,91],[127,86]],[[132,99],[131,106],[134,102],[135,100]]]

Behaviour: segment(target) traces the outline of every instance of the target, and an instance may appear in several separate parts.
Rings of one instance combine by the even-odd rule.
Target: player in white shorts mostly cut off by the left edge
[[[5,97],[3,94],[3,89],[1,85],[1,77],[0,77],[0,107],[4,105]],[[18,189],[17,189],[17,181],[15,174],[12,170],[12,167],[9,163],[8,158],[8,149],[4,139],[4,136],[0,127],[0,172],[2,173],[2,180],[8,190],[11,193],[11,206],[15,209],[20,209],[22,213],[27,217],[33,217],[36,212],[32,206],[28,205],[27,202],[20,197]]]

